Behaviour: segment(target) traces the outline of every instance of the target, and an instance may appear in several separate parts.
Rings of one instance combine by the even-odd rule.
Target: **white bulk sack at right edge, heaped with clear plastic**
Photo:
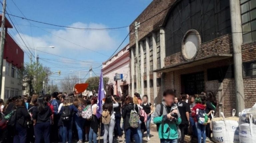
[[[240,143],[256,142],[256,104],[239,113],[239,140]]]

